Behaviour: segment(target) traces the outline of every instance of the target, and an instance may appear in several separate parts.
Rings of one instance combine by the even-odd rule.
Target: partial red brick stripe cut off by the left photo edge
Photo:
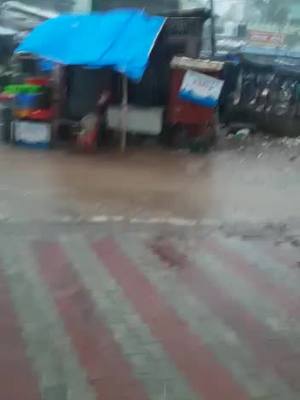
[[[0,399],[38,400],[38,381],[26,357],[21,327],[0,268]]]

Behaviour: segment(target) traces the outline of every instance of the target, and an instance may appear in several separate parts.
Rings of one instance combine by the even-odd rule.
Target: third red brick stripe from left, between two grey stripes
[[[217,362],[199,336],[190,332],[185,321],[113,240],[98,241],[93,249],[201,399],[247,399],[243,389]]]

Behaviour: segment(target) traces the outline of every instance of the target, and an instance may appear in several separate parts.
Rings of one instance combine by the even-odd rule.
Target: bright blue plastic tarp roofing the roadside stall
[[[63,14],[37,26],[15,52],[65,65],[111,67],[139,80],[164,22],[135,9]]]

